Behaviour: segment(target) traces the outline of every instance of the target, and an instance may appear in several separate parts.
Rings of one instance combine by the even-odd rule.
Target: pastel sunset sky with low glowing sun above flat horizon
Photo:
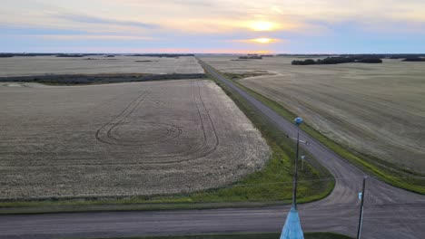
[[[424,0],[2,0],[3,53],[425,53]]]

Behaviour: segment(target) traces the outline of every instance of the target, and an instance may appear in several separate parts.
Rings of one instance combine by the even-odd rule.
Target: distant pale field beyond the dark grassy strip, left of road
[[[90,60],[89,60],[90,59]],[[0,58],[0,77],[44,74],[145,73],[190,74],[203,73],[193,56],[147,57],[124,56],[84,57],[15,56]]]

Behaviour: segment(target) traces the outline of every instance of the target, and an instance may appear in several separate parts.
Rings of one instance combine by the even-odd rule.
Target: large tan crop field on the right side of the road
[[[425,171],[423,62],[299,66],[291,57],[202,59],[221,72],[263,74],[238,81],[302,116],[328,138],[382,159],[382,166]]]

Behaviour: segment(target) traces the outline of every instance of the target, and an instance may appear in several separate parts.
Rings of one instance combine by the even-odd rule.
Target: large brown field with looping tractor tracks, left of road
[[[213,81],[0,83],[0,197],[135,196],[226,186],[269,158]]]

